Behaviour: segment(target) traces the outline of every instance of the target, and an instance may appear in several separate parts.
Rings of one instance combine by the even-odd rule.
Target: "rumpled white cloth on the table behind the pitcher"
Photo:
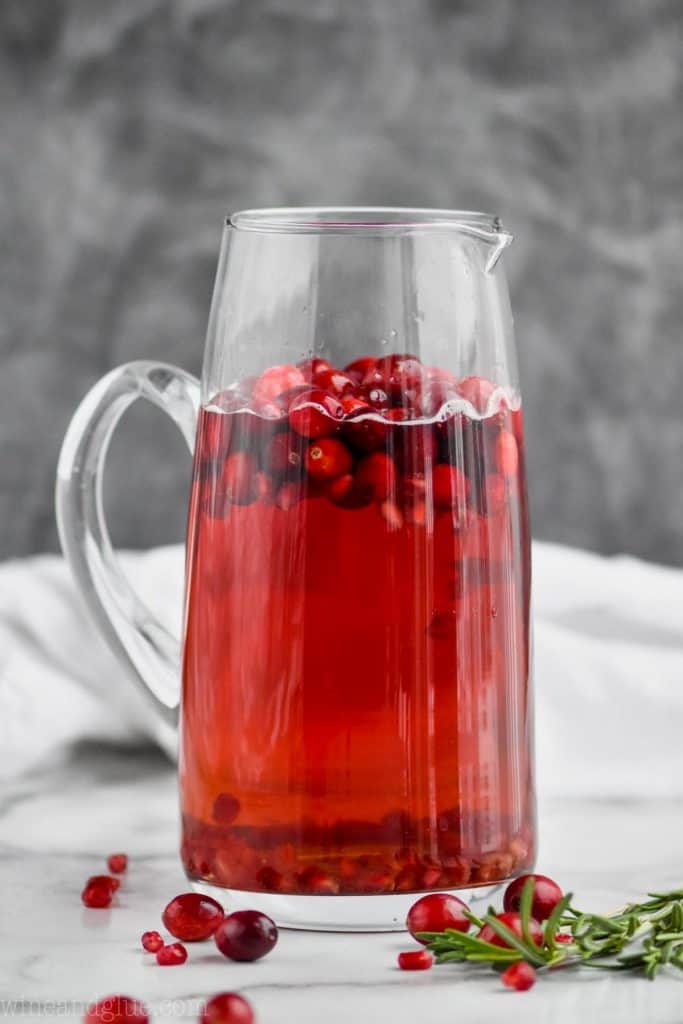
[[[178,630],[182,550],[121,556]],[[535,543],[537,771],[544,796],[683,795],[683,570]],[[63,560],[0,565],[0,777],[81,741],[144,742],[125,672]]]

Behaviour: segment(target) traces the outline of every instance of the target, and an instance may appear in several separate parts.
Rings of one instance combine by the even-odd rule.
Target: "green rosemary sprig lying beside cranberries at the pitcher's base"
[[[467,913],[477,930],[488,925],[506,946],[485,942],[471,931],[424,932],[420,938],[439,964],[467,961],[499,969],[526,961],[537,970],[585,966],[630,971],[653,980],[667,966],[683,971],[683,889],[648,896],[615,913],[598,914],[571,906],[568,893],[545,922],[543,941],[537,945],[529,933],[533,880],[528,879],[519,906],[521,936],[499,920],[494,907],[483,918]],[[571,936],[570,941],[557,941],[560,929]]]

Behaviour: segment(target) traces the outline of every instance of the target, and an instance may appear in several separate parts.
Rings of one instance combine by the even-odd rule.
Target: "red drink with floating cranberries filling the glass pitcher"
[[[533,860],[521,408],[412,355],[271,367],[200,416],[182,857],[230,889]]]

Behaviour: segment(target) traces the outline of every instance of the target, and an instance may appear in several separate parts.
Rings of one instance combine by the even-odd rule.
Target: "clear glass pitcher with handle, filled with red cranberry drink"
[[[132,362],[69,428],[65,553],[168,750],[179,729],[182,861],[230,908],[398,929],[418,894],[532,866],[510,241],[481,213],[234,214],[201,385]],[[102,517],[140,396],[194,451],[181,647]]]

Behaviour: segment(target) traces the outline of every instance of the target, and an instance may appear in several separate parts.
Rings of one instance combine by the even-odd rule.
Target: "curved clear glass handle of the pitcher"
[[[156,710],[155,732],[174,752],[180,643],[137,597],[121,570],[102,510],[102,472],[117,423],[137,398],[169,414],[193,452],[199,381],[163,362],[127,362],[86,394],[61,445],[56,479],[59,540],[97,626]]]

